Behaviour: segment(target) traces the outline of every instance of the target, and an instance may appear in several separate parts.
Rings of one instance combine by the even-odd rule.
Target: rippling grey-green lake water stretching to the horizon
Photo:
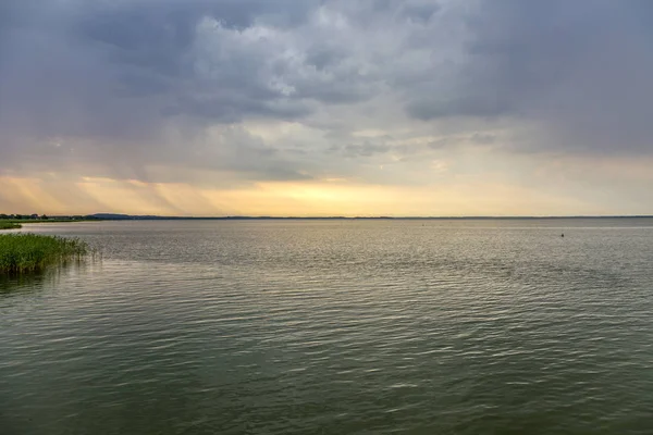
[[[653,433],[653,220],[27,228],[2,435]]]

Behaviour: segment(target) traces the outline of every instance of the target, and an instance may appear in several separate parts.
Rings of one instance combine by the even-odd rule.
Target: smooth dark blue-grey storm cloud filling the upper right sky
[[[453,96],[419,96],[408,113],[513,116],[539,127],[529,149],[649,152],[652,24],[648,1],[486,0],[467,17]]]

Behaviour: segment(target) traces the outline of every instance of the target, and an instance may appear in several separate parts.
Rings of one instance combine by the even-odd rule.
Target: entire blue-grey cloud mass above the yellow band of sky
[[[464,124],[481,145],[500,141],[473,137],[492,123],[532,128],[520,150],[650,152],[650,4],[4,0],[0,171],[300,179],[402,151],[356,129],[418,124]],[[288,150],[242,127],[280,121],[316,140]]]

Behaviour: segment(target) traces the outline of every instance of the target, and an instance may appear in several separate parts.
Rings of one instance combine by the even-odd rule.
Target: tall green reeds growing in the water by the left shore
[[[0,234],[0,273],[30,272],[82,260],[88,245],[76,238],[37,234]]]

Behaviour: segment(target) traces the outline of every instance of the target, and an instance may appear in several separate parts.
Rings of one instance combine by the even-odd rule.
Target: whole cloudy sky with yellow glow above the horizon
[[[653,214],[648,0],[2,0],[0,212]]]

